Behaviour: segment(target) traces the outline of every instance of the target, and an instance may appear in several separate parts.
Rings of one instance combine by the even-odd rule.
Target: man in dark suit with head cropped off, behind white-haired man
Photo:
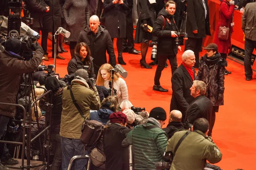
[[[206,35],[211,35],[207,0],[187,1],[187,21],[188,40],[186,40],[185,50],[195,52],[195,68],[198,68],[203,38]]]

